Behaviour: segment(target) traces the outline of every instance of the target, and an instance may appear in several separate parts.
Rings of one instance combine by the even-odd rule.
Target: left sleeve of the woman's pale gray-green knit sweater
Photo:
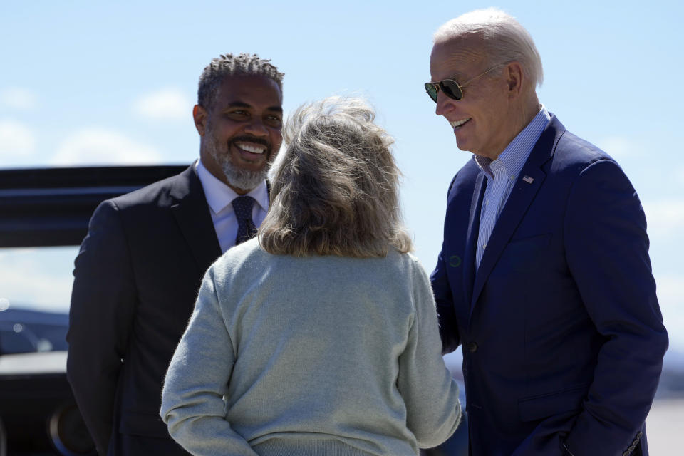
[[[214,266],[166,373],[160,415],[171,437],[193,455],[257,456],[225,419],[223,396],[235,359]]]

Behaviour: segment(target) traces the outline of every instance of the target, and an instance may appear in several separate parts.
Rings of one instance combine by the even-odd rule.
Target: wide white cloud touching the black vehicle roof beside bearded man
[[[152,146],[134,142],[121,133],[98,128],[80,130],[64,140],[53,165],[141,165],[162,162]]]

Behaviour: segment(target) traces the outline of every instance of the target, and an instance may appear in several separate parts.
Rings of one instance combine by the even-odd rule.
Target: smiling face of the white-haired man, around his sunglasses
[[[452,38],[432,48],[430,75],[432,81],[465,83],[496,63],[487,61],[479,38]],[[437,93],[435,113],[448,120],[460,150],[494,159],[527,125],[521,118],[518,68],[511,63],[475,78],[463,87],[461,100]]]

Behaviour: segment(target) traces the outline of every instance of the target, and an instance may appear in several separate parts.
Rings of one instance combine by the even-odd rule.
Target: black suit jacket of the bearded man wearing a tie
[[[162,382],[220,254],[194,166],[95,209],[76,258],[67,373],[100,454],[187,455],[159,417]]]

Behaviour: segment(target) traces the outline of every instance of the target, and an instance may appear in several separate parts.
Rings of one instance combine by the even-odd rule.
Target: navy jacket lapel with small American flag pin
[[[471,312],[475,307],[477,299],[480,297],[489,273],[496,266],[504,248],[527,212],[527,208],[532,204],[541,184],[544,182],[546,172],[541,167],[553,155],[555,146],[564,131],[563,124],[555,116],[552,117],[549,125],[546,126],[546,130],[544,130],[544,133],[541,133],[539,140],[537,140],[537,144],[532,148],[527,162],[522,167],[511,195],[504,205],[497,224],[494,225],[494,231],[492,231],[492,235],[489,237],[489,241],[487,241],[487,249],[484,249],[480,268],[477,269],[477,274],[475,275],[470,305]],[[528,182],[529,179],[523,180],[524,177],[531,177],[532,182]],[[475,232],[475,240],[477,241],[477,232]]]

